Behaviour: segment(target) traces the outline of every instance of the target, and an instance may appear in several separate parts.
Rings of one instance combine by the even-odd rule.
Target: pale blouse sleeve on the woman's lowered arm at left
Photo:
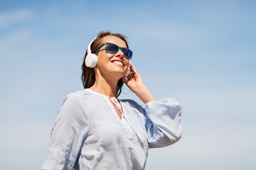
[[[63,100],[53,125],[50,148],[41,170],[73,169],[87,133],[87,115],[79,96],[69,94]]]

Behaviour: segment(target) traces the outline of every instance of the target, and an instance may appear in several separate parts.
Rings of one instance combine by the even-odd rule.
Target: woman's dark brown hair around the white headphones
[[[94,52],[95,50],[97,50],[97,48],[100,47],[100,45],[102,45],[101,44],[102,42],[100,40],[108,35],[114,35],[117,38],[120,38],[121,40],[123,40],[125,42],[125,44],[129,48],[129,46],[127,44],[127,40],[125,39],[124,35],[118,34],[118,33],[111,33],[110,31],[107,31],[107,32],[102,31],[97,35],[97,38],[92,42],[92,45],[90,47],[91,51]],[[81,79],[82,79],[82,85],[83,85],[84,89],[90,88],[93,84],[95,84],[95,71],[93,68],[86,67],[86,65],[85,65],[86,56],[87,56],[87,50],[85,52],[85,57],[84,57],[84,60],[82,62],[82,67],[81,67],[81,69],[82,69]],[[119,81],[117,82],[117,97],[121,94],[123,84],[124,83],[123,83],[122,79],[119,79]]]

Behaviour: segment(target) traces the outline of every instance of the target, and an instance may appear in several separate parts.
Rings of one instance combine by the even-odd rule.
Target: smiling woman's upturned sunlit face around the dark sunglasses
[[[101,39],[100,45],[104,44],[105,42],[111,42],[119,47],[127,47],[126,43],[117,38],[114,35],[107,35],[106,37]],[[105,45],[100,48],[100,52],[97,53],[98,62],[97,62],[97,69],[100,70],[100,73],[110,75],[118,75],[118,79],[124,77],[125,73],[127,72],[129,66],[129,60],[124,58],[124,53],[119,50],[116,54],[110,54],[106,52]]]

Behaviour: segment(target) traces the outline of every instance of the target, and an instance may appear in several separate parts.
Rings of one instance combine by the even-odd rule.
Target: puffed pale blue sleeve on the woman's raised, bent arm
[[[181,138],[181,106],[174,98],[146,103],[144,121],[149,148],[166,147]]]

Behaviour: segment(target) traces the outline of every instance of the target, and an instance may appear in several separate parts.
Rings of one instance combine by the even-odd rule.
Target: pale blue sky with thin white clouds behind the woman
[[[146,169],[255,169],[255,16],[255,1],[1,0],[0,169],[40,168],[101,30],[126,35],[151,93],[183,106],[183,137]]]

